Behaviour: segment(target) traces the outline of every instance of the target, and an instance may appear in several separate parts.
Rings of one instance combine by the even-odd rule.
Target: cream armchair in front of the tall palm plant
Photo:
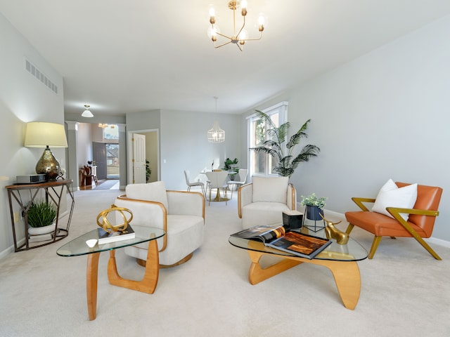
[[[297,192],[288,177],[253,177],[238,190],[238,216],[243,229],[283,222],[283,211],[297,208]]]

